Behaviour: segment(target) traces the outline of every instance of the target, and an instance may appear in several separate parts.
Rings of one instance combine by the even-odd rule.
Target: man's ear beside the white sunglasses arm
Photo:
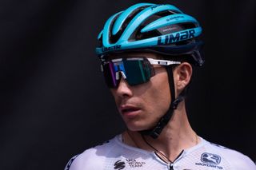
[[[192,66],[188,62],[182,62],[174,69],[174,81],[177,90],[182,90],[190,83]]]

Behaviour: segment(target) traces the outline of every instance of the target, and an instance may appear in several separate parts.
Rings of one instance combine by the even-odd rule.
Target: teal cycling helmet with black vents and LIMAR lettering
[[[98,56],[125,51],[149,51],[165,55],[190,54],[203,65],[198,21],[177,7],[138,3],[112,15],[98,34]]]

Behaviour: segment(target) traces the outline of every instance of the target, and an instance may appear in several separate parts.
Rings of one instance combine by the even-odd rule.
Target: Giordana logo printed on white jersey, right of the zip
[[[221,156],[218,156],[213,153],[204,152],[201,155],[201,162],[195,163],[195,164],[199,166],[223,169],[221,166],[218,166],[218,164],[221,163],[221,160],[222,160]]]

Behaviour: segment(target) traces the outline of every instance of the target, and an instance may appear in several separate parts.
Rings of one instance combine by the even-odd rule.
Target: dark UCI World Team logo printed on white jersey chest
[[[140,162],[135,159],[118,160],[114,163],[114,169],[121,170],[129,166],[130,168],[142,168],[146,162]]]

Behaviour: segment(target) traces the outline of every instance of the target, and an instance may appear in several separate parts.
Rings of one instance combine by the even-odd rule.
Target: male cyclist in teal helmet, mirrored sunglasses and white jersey
[[[66,170],[256,170],[248,156],[198,136],[186,89],[204,63],[198,21],[177,7],[138,3],[112,15],[96,48],[127,130],[74,156]]]

